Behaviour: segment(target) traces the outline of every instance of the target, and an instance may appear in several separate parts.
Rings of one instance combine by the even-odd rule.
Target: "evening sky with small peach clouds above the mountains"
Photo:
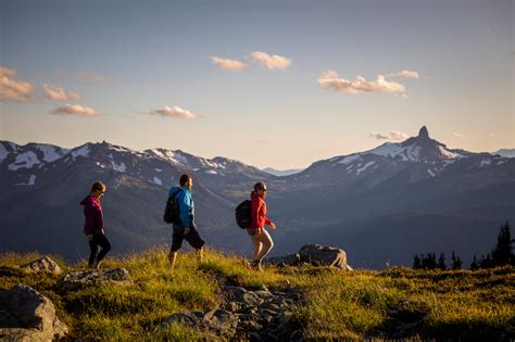
[[[0,140],[258,167],[515,148],[512,0],[0,0]]]

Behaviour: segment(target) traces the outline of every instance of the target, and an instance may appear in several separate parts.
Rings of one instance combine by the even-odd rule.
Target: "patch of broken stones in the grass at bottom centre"
[[[176,313],[164,325],[178,322],[200,331],[209,331],[213,338],[250,341],[302,340],[299,324],[293,319],[296,305],[303,300],[298,290],[269,291],[263,287],[251,291],[242,287],[223,287],[219,308],[205,312]]]

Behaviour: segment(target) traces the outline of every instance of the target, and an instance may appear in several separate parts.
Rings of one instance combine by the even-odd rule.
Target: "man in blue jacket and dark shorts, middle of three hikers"
[[[194,205],[191,198],[191,187],[193,186],[193,178],[190,175],[180,176],[180,187],[172,187],[168,195],[174,198],[175,206],[177,207],[177,219],[173,224],[172,246],[169,249],[169,264],[175,266],[177,259],[177,251],[183,245],[183,240],[186,239],[188,243],[197,250],[199,261],[203,258],[204,240],[199,236],[197,226],[194,225]]]

